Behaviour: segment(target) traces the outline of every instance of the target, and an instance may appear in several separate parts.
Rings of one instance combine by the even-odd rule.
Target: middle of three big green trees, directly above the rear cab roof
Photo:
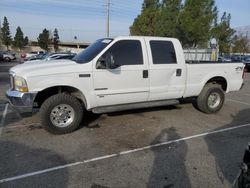
[[[182,8],[182,0],[163,0],[159,20],[156,24],[156,35],[162,37],[178,37],[178,17]]]

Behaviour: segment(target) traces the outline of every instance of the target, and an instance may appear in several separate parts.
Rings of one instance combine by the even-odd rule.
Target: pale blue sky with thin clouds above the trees
[[[59,31],[64,42],[93,42],[106,37],[108,0],[1,0],[0,21],[6,16],[12,36],[20,26],[36,40],[44,28]],[[110,36],[129,35],[143,0],[110,0]],[[250,25],[250,0],[216,0],[219,16],[231,13],[231,26]],[[77,37],[75,40],[74,37]]]

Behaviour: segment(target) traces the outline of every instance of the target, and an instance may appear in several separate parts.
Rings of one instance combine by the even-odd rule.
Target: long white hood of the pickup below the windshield
[[[85,64],[86,65],[86,64]],[[78,64],[75,61],[71,60],[50,60],[50,61],[34,61],[26,62],[21,65],[17,65],[10,69],[11,72],[14,72],[18,76],[24,78],[31,76],[42,76],[50,74],[63,74],[63,73],[77,73],[82,70],[84,64]]]

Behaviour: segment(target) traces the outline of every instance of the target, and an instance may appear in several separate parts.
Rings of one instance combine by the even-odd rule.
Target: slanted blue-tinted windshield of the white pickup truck
[[[113,39],[99,39],[88,48],[77,54],[72,60],[77,63],[87,63],[94,59]]]

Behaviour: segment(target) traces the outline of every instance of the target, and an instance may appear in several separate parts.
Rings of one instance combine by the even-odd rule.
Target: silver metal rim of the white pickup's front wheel
[[[60,104],[54,107],[50,113],[50,120],[56,127],[67,127],[75,118],[74,109],[67,104]]]

